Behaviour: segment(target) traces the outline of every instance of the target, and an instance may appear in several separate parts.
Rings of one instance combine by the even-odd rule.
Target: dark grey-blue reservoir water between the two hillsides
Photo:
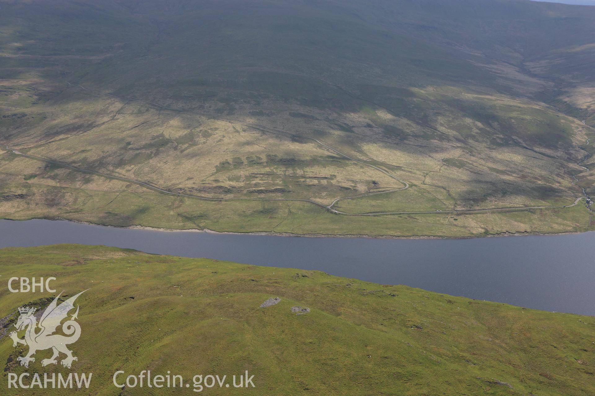
[[[0,220],[0,248],[108,245],[321,270],[382,284],[595,315],[595,232],[478,239],[286,237]]]

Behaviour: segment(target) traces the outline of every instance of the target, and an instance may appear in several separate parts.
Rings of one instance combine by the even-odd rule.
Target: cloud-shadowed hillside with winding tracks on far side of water
[[[337,233],[335,221],[349,233],[403,236],[593,229],[585,199],[580,218],[562,208],[595,188],[593,7],[0,5],[0,143],[36,158],[0,153],[2,217],[273,231],[303,206],[290,199],[306,199],[324,220],[299,215],[307,230],[292,232]],[[219,200],[216,213],[189,196]],[[99,197],[111,198],[90,203]],[[446,214],[408,213],[405,228],[398,215],[390,226],[331,220],[330,205],[352,214],[557,208],[513,222],[518,215],[472,215],[444,229]],[[167,220],[148,215],[162,206]]]

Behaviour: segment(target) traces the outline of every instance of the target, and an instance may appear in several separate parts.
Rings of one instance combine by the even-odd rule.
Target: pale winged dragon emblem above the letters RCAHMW
[[[76,296],[70,297],[70,299],[58,305],[58,297],[52,301],[48,308],[43,311],[39,323],[37,323],[37,317],[35,316],[35,308],[22,307],[18,309],[20,316],[17,319],[17,323],[14,327],[17,331],[10,333],[12,338],[12,346],[15,347],[17,344],[23,344],[29,346],[29,352],[26,356],[17,357],[17,361],[20,362],[21,366],[29,367],[29,363],[35,362],[35,357],[32,357],[36,351],[52,349],[54,354],[49,359],[43,359],[41,361],[42,366],[55,365],[58,363],[56,358],[63,353],[66,355],[65,359],[62,360],[62,366],[69,368],[74,360],[78,360],[76,356],[73,356],[73,351],[67,348],[68,344],[76,343],[80,337],[80,325],[74,320],[78,319],[79,306],[77,305],[76,312],[71,318],[62,324],[62,334],[54,334],[60,326],[62,320],[68,316],[68,312],[74,309],[74,300],[77,299],[81,294],[86,292],[80,292]],[[18,338],[17,332],[26,328],[24,339]]]

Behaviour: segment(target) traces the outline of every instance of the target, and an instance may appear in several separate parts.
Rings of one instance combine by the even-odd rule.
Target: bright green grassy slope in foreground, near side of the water
[[[189,389],[115,388],[111,376],[151,369],[184,378],[249,370],[256,388],[212,394],[587,395],[595,392],[595,319],[535,311],[367,283],[320,271],[149,255],[105,246],[0,250],[0,275],[57,277],[79,297],[82,336],[72,372],[92,372],[93,395],[184,394]],[[19,306],[51,293],[0,290],[7,326]],[[279,297],[281,302],[260,308]],[[310,312],[296,315],[290,308]],[[12,316],[10,316],[12,315]],[[10,328],[9,328],[9,331]],[[0,334],[4,334],[0,331]],[[2,375],[26,371],[23,347],[0,339],[11,357]],[[29,372],[63,372],[40,366]],[[46,356],[48,355],[48,356]],[[3,360],[4,361],[4,360]],[[505,384],[506,383],[506,384]],[[14,391],[14,392],[13,392]],[[7,392],[7,393],[6,393]],[[44,394],[59,394],[58,390]],[[67,393],[63,393],[67,394]]]

